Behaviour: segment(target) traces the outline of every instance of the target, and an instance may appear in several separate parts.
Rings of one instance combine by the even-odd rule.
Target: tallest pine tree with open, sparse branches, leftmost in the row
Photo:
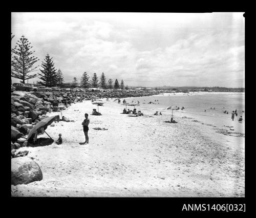
[[[14,36],[12,36],[13,38]],[[25,83],[26,79],[32,79],[37,74],[29,75],[34,72],[39,66],[33,67],[34,63],[39,59],[32,56],[35,51],[31,51],[33,48],[30,46],[31,42],[23,35],[18,42],[16,47],[12,49],[12,61],[11,61],[11,76],[17,79],[21,79],[20,82]]]

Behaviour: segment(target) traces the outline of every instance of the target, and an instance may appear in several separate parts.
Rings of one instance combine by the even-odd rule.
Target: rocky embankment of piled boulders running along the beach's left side
[[[12,184],[28,184],[42,179],[40,167],[25,156],[30,146],[27,136],[36,123],[47,118],[47,113],[65,110],[68,105],[97,98],[126,98],[149,96],[152,93],[127,92],[22,92],[11,94],[11,158]],[[15,160],[14,160],[15,159]]]

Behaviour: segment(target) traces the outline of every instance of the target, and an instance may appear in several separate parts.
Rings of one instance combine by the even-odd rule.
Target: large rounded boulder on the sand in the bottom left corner
[[[42,180],[42,171],[39,165],[28,157],[11,159],[11,184],[28,184]]]

